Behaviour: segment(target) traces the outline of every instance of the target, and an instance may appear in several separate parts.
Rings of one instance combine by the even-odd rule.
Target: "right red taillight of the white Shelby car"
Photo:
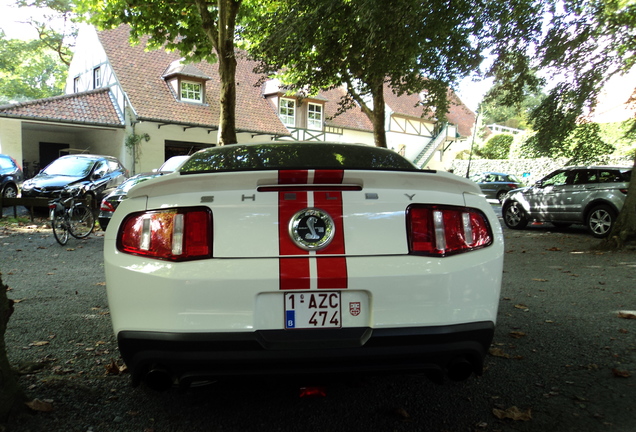
[[[407,209],[409,253],[447,256],[488,246],[493,234],[477,209],[412,205]]]

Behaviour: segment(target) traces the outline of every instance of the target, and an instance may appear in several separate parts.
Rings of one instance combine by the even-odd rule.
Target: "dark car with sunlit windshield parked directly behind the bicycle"
[[[128,170],[112,156],[62,156],[35,177],[26,180],[22,186],[22,196],[52,198],[66,186],[84,185],[86,197],[93,203],[99,203],[107,188],[118,186],[127,177]]]

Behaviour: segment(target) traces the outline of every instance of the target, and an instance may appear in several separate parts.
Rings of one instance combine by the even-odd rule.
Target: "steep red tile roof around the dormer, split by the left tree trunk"
[[[220,79],[217,64],[193,64],[212,79],[206,82],[207,104],[178,101],[162,75],[179,60],[179,52],[145,50],[145,39],[135,46],[129,43],[129,27],[98,32],[115,74],[128,95],[139,120],[217,128],[219,125]],[[240,55],[240,54],[239,54]],[[261,95],[261,76],[253,72],[256,63],[238,58],[236,68],[237,132],[261,132],[289,135],[275,110]]]

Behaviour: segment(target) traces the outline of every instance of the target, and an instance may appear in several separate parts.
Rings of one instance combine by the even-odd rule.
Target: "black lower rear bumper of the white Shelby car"
[[[493,334],[492,322],[476,322],[241,333],[122,331],[118,342],[133,385],[157,368],[187,385],[232,376],[338,373],[422,372],[439,378],[448,373],[465,379],[482,373]]]

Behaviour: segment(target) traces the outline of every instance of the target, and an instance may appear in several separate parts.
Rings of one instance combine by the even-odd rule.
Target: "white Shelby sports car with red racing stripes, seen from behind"
[[[479,187],[355,144],[195,153],[131,190],[106,232],[133,385],[232,376],[480,374],[503,236]]]

